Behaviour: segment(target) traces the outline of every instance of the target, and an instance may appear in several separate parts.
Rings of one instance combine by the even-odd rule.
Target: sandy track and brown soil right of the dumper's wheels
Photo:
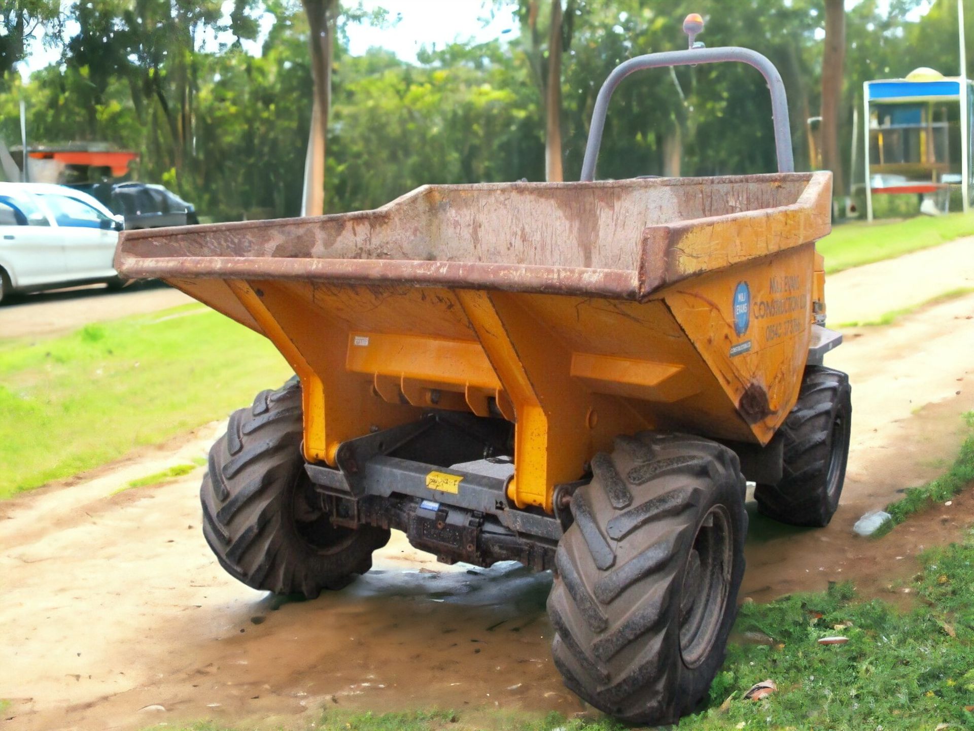
[[[941,474],[955,459],[965,433],[959,415],[974,410],[974,295],[886,327],[851,330],[845,338],[826,357],[852,384],[852,444],[842,503],[824,530],[786,529],[752,517],[742,591],[756,600],[824,589],[850,576],[863,587],[882,587],[890,568],[886,554],[910,556],[924,544],[950,538],[921,530],[911,542],[904,536],[912,531],[904,529],[880,542],[864,541],[852,525],[897,493]],[[907,564],[907,573],[915,569]]]

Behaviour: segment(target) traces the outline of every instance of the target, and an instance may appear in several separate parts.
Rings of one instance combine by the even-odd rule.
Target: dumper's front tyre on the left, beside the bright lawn
[[[389,530],[333,526],[301,454],[301,385],[257,394],[209,451],[203,532],[220,565],[254,589],[315,599],[372,567]]]

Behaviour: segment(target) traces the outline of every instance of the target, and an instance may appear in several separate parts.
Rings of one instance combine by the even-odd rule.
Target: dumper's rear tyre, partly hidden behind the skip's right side
[[[839,507],[849,455],[852,401],[842,371],[808,366],[798,402],[782,424],[784,470],[754,497],[769,518],[791,526],[829,525]]]

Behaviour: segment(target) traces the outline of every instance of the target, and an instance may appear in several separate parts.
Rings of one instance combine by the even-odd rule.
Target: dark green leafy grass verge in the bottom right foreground
[[[848,584],[768,604],[745,603],[735,629],[762,642],[731,642],[711,687],[708,708],[684,718],[679,728],[974,728],[974,603],[970,602],[974,533],[968,532],[960,543],[926,551],[919,561],[918,575],[908,587],[920,600],[912,610],[879,600],[859,601]],[[834,635],[848,642],[817,642]],[[743,700],[752,684],[768,677],[777,683],[776,693],[760,701]],[[222,730],[206,724],[182,728]],[[624,727],[604,717],[565,720],[554,714],[540,718],[504,709],[371,714],[329,707],[302,728],[621,731]],[[173,726],[167,729],[172,731]]]

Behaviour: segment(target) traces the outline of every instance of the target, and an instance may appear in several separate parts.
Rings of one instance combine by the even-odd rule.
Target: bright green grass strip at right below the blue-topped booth
[[[965,236],[974,236],[974,216],[952,213],[895,223],[847,223],[816,246],[825,257],[826,274],[833,274]]]

